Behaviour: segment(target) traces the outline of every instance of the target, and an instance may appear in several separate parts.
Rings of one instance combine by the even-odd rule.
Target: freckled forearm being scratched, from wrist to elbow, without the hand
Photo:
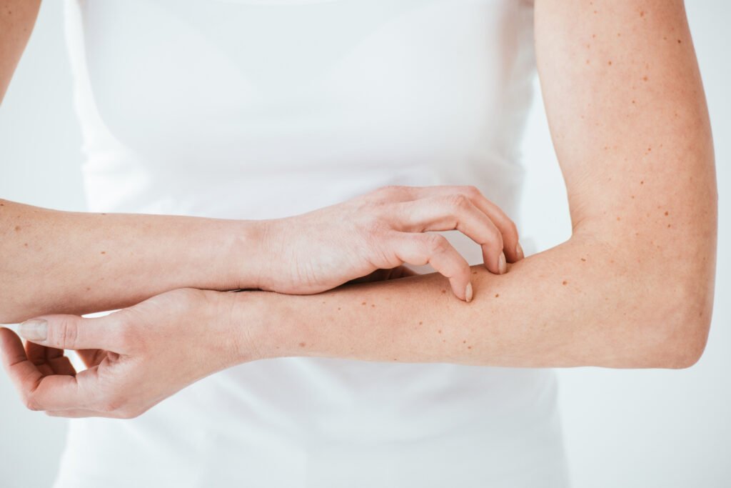
[[[436,274],[347,285],[317,296],[257,292],[227,299],[234,322],[249,321],[252,300],[262,302],[260,332],[241,330],[243,342],[264,357],[684,367],[702,350],[681,327],[708,313],[705,304],[687,300],[697,290],[682,281],[662,286],[635,255],[588,234],[515,263],[507,274],[481,266],[473,273],[469,304],[450,296]]]

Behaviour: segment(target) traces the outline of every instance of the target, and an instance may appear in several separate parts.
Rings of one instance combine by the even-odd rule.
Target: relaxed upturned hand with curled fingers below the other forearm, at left
[[[105,317],[45,315],[34,319],[45,320],[45,331],[34,320],[21,325],[32,341],[25,350],[0,329],[3,365],[31,410],[132,418],[200,378],[258,359],[241,356],[240,320],[230,334],[226,294],[186,288]],[[77,374],[64,349],[77,350],[88,369]]]

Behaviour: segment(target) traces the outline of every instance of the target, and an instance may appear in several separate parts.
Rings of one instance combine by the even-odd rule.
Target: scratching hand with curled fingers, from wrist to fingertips
[[[459,230],[482,247],[495,274],[523,259],[515,223],[474,187],[384,187],[344,203],[265,223],[264,246],[278,259],[262,290],[308,294],[377,269],[431,264],[459,299],[472,298],[467,261],[439,234]]]

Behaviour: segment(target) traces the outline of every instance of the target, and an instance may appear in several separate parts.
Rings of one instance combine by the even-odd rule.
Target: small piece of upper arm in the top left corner
[[[40,0],[0,2],[0,102],[31,36],[40,3]]]

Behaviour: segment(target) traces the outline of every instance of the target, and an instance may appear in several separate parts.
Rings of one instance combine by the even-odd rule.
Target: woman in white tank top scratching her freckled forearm
[[[0,322],[31,319],[4,365],[29,408],[134,419],[73,421],[58,487],[566,486],[537,368],[700,357],[716,182],[681,1],[96,0],[69,34],[96,213],[1,202]],[[534,45],[573,235],[523,259]]]

